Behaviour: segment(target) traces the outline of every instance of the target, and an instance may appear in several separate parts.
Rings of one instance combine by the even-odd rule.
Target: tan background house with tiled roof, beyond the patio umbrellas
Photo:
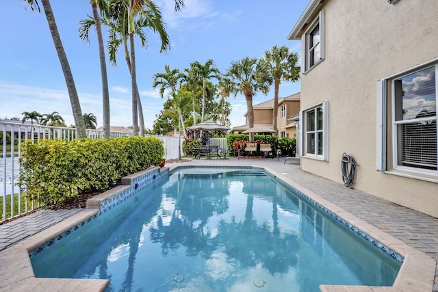
[[[274,113],[274,99],[263,101],[254,105],[254,127],[264,127],[272,129],[272,115]],[[279,97],[278,115],[276,119],[279,137],[296,137],[297,122],[290,120],[293,116],[298,116],[300,112],[300,92],[286,97]],[[248,113],[244,115],[248,118]],[[231,133],[242,133],[249,128],[248,120],[246,124],[233,127]]]

